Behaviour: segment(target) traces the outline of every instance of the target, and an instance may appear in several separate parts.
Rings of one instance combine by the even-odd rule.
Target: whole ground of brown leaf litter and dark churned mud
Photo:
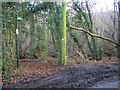
[[[17,88],[85,88],[97,82],[118,77],[118,60],[103,57],[101,61],[80,60],[73,63],[69,59],[67,66],[57,65],[54,58],[46,62],[23,59],[20,69],[14,71],[14,77],[3,87]]]

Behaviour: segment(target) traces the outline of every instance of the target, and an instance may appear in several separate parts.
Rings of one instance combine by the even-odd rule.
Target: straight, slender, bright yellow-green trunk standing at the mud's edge
[[[63,21],[62,21],[62,65],[66,65],[66,0],[63,0],[62,2],[62,15],[63,15]]]

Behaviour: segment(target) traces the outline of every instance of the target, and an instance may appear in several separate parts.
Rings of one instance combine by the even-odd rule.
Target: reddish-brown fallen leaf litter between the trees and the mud
[[[80,67],[80,66],[89,66],[92,65],[107,65],[107,64],[117,64],[117,58],[112,57],[109,60],[109,57],[104,57],[102,61],[84,61],[80,62],[80,64],[74,64],[67,67]],[[24,61],[24,62],[22,62]],[[14,76],[10,78],[10,83],[16,83],[23,79],[27,79],[29,81],[31,78],[39,78],[42,76],[50,75],[60,70],[64,70],[67,67],[59,66],[55,63],[54,58],[49,58],[46,62],[40,62],[39,60],[21,60],[20,69],[14,70]]]

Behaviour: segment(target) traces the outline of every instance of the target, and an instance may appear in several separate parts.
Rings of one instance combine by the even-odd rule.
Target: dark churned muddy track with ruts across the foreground
[[[50,75],[5,84],[3,88],[86,88],[99,81],[118,77],[118,72],[117,62],[80,62]]]

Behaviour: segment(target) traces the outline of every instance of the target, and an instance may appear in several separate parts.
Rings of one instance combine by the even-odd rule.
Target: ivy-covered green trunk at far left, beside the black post
[[[7,81],[15,69],[15,4],[2,3],[2,78]]]

